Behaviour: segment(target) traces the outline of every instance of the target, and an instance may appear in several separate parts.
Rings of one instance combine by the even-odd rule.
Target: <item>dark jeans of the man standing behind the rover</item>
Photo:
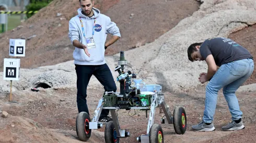
[[[87,107],[87,85],[90,81],[92,75],[94,75],[98,81],[104,86],[105,92],[116,92],[117,86],[115,85],[112,73],[108,67],[108,65],[102,64],[97,66],[84,66],[75,64],[76,75],[77,75],[77,108],[78,112],[87,112],[89,114],[89,110]],[[101,117],[107,116],[109,114],[108,109],[104,109],[101,111]]]

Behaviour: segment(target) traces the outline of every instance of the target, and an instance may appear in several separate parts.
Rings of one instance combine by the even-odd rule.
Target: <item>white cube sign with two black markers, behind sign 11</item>
[[[26,40],[10,39],[9,56],[25,57]]]

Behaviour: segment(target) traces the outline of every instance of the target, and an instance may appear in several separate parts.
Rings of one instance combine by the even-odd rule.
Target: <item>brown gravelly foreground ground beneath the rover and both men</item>
[[[1,98],[1,109],[8,112],[7,118],[0,118],[0,139],[4,142],[79,142],[75,132],[77,115],[75,87],[40,89],[39,92],[24,90],[15,92],[14,100],[18,103],[8,102],[8,98]],[[89,89],[88,106],[90,113],[94,112],[102,91]],[[31,101],[31,98],[33,100]],[[255,132],[255,94],[253,92],[240,92],[237,97],[243,111],[243,122],[246,128],[239,132],[223,132],[221,127],[231,121],[228,106],[223,94],[218,95],[218,103],[213,133],[198,133],[191,130],[191,126],[202,120],[204,109],[204,92],[172,94],[165,92],[167,105],[173,112],[175,106],[182,106],[187,113],[187,131],[177,135],[173,125],[161,124],[164,130],[165,142],[254,142],[252,134]],[[160,124],[163,113],[156,110],[155,123]],[[131,133],[130,137],[122,138],[121,142],[136,142],[136,137],[146,134],[148,118],[145,111],[131,110],[118,111],[122,129]],[[103,129],[92,130],[89,142],[104,142]],[[8,138],[6,138],[8,135]]]

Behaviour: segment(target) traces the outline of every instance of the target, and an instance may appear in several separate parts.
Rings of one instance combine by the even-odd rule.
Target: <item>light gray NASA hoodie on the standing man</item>
[[[119,28],[110,20],[106,15],[100,14],[100,10],[92,8],[94,16],[87,17],[82,14],[82,8],[77,10],[78,15],[69,20],[69,32],[68,36],[73,44],[74,40],[78,40],[80,43],[86,45],[85,38],[82,31],[82,25],[79,17],[82,18],[85,36],[92,37],[92,29],[94,28],[94,21],[96,19],[96,27],[94,30],[94,41],[96,48],[88,49],[90,57],[85,54],[84,49],[75,48],[73,52],[73,58],[75,64],[80,65],[101,65],[106,63],[104,58],[107,34],[116,35],[121,37]]]

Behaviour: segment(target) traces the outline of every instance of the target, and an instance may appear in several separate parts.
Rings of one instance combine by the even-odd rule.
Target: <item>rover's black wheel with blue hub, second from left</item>
[[[105,136],[105,142],[106,143],[119,143],[119,137],[116,137],[114,139],[114,132],[115,132],[115,128],[114,128],[114,122],[113,121],[109,121],[106,126],[105,126],[105,131],[104,131],[104,136]],[[115,135],[117,136],[117,135]]]

